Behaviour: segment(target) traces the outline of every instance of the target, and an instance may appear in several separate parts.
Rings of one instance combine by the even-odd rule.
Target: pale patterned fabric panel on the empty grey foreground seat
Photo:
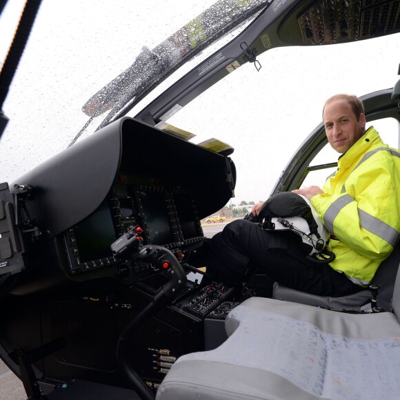
[[[328,399],[393,399],[400,392],[399,338],[350,339],[272,312],[247,308],[245,314],[219,348],[181,359],[259,368]]]

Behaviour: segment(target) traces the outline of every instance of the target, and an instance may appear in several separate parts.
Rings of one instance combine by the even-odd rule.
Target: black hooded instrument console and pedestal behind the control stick
[[[190,261],[204,239],[201,219],[228,203],[235,179],[230,158],[126,117],[13,182],[7,199],[19,200],[14,228],[24,245],[7,259],[9,270],[23,270],[2,311],[19,338],[13,346],[33,349],[61,338],[66,347],[38,367],[46,379],[127,385],[116,343],[171,276],[154,260],[112,251],[139,226],[143,247],[168,250],[188,279],[129,335],[128,360],[157,385],[182,354],[204,350],[210,315],[243,294],[196,272]],[[211,328],[212,337],[223,330],[221,323]]]

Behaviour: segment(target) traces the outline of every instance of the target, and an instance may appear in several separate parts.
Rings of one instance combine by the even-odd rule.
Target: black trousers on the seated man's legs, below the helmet
[[[258,223],[239,219],[208,241],[211,270],[222,281],[239,283],[250,268],[283,286],[340,297],[363,290],[327,263],[306,257],[301,237],[289,230],[263,230]]]

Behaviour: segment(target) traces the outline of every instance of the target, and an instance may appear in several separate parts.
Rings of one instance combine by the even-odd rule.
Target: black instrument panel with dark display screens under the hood
[[[164,246],[179,254],[203,240],[190,190],[138,184],[134,177],[119,174],[101,206],[64,233],[68,274],[121,263],[110,246],[138,225],[143,228],[143,244]]]

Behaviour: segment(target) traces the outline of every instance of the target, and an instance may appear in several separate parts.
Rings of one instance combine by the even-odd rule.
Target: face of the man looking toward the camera
[[[323,110],[323,123],[330,146],[337,152],[346,152],[365,132],[366,117],[360,114],[359,121],[345,99],[335,99]]]

